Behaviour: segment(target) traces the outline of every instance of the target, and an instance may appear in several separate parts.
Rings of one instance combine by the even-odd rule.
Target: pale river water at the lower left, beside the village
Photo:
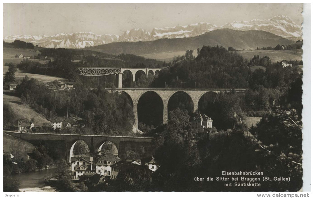
[[[20,188],[35,188],[45,186],[44,178],[48,175],[53,175],[55,169],[38,170],[29,173],[19,173],[12,177],[20,182]]]

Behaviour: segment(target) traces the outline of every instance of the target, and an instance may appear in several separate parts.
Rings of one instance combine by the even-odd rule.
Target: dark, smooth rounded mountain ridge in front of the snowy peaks
[[[195,37],[158,39],[145,42],[116,42],[89,47],[87,49],[115,55],[120,53],[143,55],[171,51],[186,51],[201,48],[203,45],[221,45],[225,48],[231,46],[236,49],[256,49],[261,46],[275,47],[277,44],[288,45],[294,43],[294,41],[284,39],[266,31],[216,29]]]

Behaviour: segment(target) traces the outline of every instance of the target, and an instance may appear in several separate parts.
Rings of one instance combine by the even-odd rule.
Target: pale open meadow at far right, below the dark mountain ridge
[[[237,51],[236,53],[240,54],[247,60],[252,59],[254,55],[259,55],[260,57],[269,56],[272,62],[280,62],[282,60],[302,60],[303,50],[297,49],[297,53],[295,53],[295,50],[242,50]]]

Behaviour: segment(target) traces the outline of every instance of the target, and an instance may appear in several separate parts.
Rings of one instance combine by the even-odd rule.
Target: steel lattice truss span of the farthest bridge
[[[77,67],[77,69],[81,76],[106,76],[121,72],[121,68],[108,67]]]

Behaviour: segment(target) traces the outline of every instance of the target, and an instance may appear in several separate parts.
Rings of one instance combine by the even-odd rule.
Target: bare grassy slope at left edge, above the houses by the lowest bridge
[[[28,104],[23,104],[21,99],[16,96],[15,92],[3,90],[3,103],[9,104],[15,115],[17,115],[17,119],[25,119],[26,115],[28,120],[34,117],[35,127],[43,125],[49,126],[51,124],[51,122],[49,122],[44,116],[31,109]]]

